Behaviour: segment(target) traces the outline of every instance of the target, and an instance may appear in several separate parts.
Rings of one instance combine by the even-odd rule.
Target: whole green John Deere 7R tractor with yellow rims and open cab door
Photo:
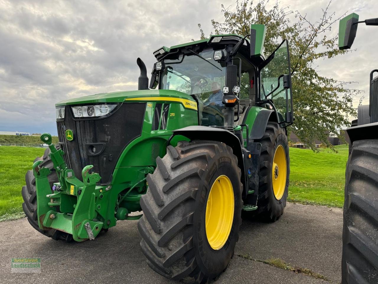
[[[222,273],[242,211],[275,221],[288,194],[288,42],[265,59],[265,31],[161,47],[150,83],[138,58],[138,91],[57,103],[59,145],[42,134],[49,149],[22,189],[29,223],[82,242],[139,219],[156,272],[188,283]]]

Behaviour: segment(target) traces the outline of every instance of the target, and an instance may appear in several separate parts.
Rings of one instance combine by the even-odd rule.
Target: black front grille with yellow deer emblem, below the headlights
[[[63,121],[57,122],[59,144],[64,150],[64,160],[76,177],[82,180],[81,171],[93,165],[99,173],[98,184],[109,184],[122,150],[141,135],[146,103],[123,103],[112,115],[103,119],[74,119],[69,106]],[[65,138],[65,130],[73,130],[74,140]],[[104,150],[93,154],[91,147]],[[89,149],[89,150],[88,150]]]

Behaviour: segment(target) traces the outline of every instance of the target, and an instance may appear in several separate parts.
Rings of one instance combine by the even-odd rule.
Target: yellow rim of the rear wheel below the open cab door
[[[286,153],[282,145],[278,145],[276,152],[274,153],[273,165],[272,165],[272,185],[274,196],[277,200],[282,198],[286,187]]]

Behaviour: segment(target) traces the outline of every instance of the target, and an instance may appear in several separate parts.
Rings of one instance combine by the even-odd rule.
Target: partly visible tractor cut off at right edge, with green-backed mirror
[[[358,20],[352,13],[339,23],[339,48],[352,47]],[[378,69],[370,72],[370,105],[358,106],[358,119],[346,130],[349,158],[345,171],[342,232],[342,284],[378,283]]]

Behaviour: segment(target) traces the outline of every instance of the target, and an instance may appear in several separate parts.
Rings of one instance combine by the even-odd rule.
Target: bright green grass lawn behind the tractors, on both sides
[[[347,145],[338,153],[321,149],[290,148],[289,201],[342,207],[344,203]],[[21,188],[25,173],[31,169],[43,148],[0,147],[0,221],[23,217]]]

